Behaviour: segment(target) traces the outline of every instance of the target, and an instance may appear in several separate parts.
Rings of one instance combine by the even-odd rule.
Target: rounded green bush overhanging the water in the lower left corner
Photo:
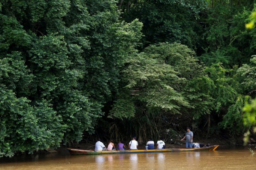
[[[59,146],[64,126],[49,103],[43,100],[31,106],[31,101],[25,97],[16,98],[11,90],[2,85],[0,97],[0,156]]]

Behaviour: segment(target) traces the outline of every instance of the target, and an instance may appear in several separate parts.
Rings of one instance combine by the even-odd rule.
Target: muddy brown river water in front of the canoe
[[[253,147],[256,153],[256,149]],[[247,148],[217,148],[216,151],[138,153],[115,155],[69,155],[51,153],[0,158],[2,170],[198,170],[256,169],[256,154]]]

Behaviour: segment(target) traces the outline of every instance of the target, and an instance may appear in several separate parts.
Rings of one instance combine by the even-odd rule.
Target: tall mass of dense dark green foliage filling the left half
[[[0,156],[93,133],[141,23],[115,1],[0,2]]]

